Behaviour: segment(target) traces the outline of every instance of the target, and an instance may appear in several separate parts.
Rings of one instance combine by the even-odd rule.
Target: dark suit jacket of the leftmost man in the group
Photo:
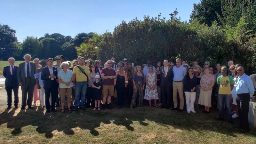
[[[11,74],[10,66],[4,67],[3,75],[5,77],[5,86],[19,86],[18,82],[18,68],[17,66],[14,66],[14,72]]]

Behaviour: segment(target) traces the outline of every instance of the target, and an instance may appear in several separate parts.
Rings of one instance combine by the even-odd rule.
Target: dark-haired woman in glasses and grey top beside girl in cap
[[[100,73],[97,71],[96,66],[92,65],[90,68],[90,75],[92,77],[92,83],[95,82],[95,76],[100,75]],[[94,107],[94,98],[93,98],[93,87],[90,81],[88,81],[88,87],[87,87],[87,95],[86,95],[86,107],[90,107],[90,103],[92,107]]]

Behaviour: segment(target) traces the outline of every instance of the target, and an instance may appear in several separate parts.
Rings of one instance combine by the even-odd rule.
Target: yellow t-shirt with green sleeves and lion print
[[[232,76],[219,76],[217,78],[217,84],[220,84],[219,94],[230,94],[231,86],[234,84],[234,80]]]

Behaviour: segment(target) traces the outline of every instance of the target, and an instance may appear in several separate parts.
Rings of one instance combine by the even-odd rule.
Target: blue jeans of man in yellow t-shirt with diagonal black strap
[[[80,108],[84,107],[86,89],[87,89],[87,81],[76,82],[76,89],[75,89],[76,94],[75,94],[75,102],[74,102],[75,108],[78,108],[78,104]],[[81,95],[81,101],[79,103],[80,95]]]

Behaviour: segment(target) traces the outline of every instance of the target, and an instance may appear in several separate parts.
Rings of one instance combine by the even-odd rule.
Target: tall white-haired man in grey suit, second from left
[[[22,62],[18,68],[18,82],[22,91],[22,105],[21,109],[25,109],[28,104],[28,108],[33,108],[33,91],[36,84],[34,74],[36,73],[35,63],[31,63],[31,55],[26,54],[24,56],[25,62]],[[28,96],[27,96],[28,95]],[[28,100],[27,100],[28,97]]]

